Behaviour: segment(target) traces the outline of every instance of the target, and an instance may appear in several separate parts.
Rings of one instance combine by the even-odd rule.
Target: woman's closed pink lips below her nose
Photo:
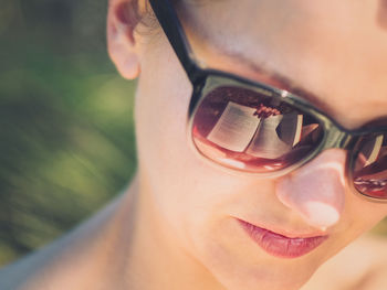
[[[328,238],[327,235],[287,237],[242,219],[238,222],[263,250],[279,258],[299,258],[311,253]]]

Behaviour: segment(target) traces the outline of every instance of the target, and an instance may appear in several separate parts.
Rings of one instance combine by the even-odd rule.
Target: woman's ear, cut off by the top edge
[[[121,75],[134,79],[139,75],[138,44],[135,29],[140,21],[139,0],[109,0],[107,50]]]

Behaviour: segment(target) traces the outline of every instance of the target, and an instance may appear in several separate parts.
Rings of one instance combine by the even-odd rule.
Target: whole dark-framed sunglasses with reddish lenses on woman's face
[[[203,68],[169,0],[149,0],[192,84],[189,139],[211,163],[257,176],[281,176],[323,150],[347,150],[354,192],[387,202],[387,127],[347,130],[304,98],[227,72]]]

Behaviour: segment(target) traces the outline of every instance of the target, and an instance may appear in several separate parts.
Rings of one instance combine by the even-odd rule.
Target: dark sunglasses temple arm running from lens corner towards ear
[[[172,4],[169,0],[149,0],[149,2],[188,78],[192,84],[196,83],[202,75],[202,69],[196,61]]]

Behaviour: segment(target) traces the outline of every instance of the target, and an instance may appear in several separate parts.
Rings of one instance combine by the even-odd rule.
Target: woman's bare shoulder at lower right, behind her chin
[[[387,289],[387,238],[366,234],[324,264],[302,290]]]

